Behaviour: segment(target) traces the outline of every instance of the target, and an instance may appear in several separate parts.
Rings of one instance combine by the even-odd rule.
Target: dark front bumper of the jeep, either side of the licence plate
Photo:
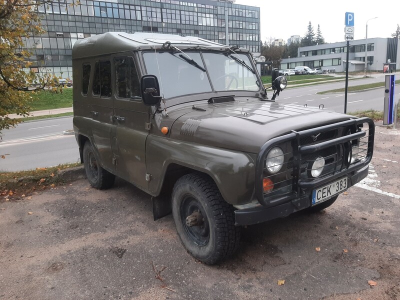
[[[362,169],[353,171],[348,174],[348,187],[359,182],[368,175],[368,165]],[[334,181],[334,180],[332,180]],[[287,202],[282,204],[267,207],[267,206],[256,206],[253,208],[237,209],[235,210],[235,225],[251,225],[257,224],[272,219],[288,216],[289,214],[305,209],[311,206],[311,193],[314,187],[307,188],[300,197],[293,197],[288,199]]]

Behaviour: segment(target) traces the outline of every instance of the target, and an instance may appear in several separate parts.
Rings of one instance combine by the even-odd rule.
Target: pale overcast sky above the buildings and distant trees
[[[354,39],[365,38],[368,21],[368,38],[390,37],[400,24],[399,0],[236,0],[236,4],[260,7],[261,41],[290,35],[303,37],[308,22],[316,34],[319,24],[325,42],[344,41],[345,12],[354,13]]]

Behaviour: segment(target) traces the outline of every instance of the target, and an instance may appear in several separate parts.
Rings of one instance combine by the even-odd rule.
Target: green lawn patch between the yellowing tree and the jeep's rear
[[[58,93],[41,90],[33,95],[30,107],[31,111],[72,107],[72,88],[63,88]]]

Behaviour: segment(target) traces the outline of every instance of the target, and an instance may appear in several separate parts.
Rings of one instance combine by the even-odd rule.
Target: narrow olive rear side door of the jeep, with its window
[[[111,61],[109,59],[96,61],[94,64],[92,99],[90,101],[93,146],[97,149],[101,166],[113,172],[114,165],[110,140],[113,125],[111,82]]]

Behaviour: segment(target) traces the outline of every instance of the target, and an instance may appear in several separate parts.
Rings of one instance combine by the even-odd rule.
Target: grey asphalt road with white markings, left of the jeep
[[[79,151],[74,135],[64,135],[72,129],[72,117],[49,118],[20,123],[2,131],[1,171],[19,171],[77,162]]]

